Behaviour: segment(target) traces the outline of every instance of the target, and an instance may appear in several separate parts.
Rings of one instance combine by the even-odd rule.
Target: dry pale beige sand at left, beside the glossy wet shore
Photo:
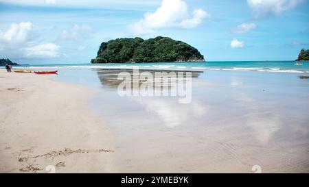
[[[54,76],[0,70],[0,173],[113,171],[113,137],[87,105],[95,90]]]

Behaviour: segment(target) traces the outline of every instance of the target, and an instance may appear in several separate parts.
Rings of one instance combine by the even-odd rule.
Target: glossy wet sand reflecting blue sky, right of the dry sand
[[[166,65],[140,72],[179,71]],[[250,66],[255,65],[260,66]],[[194,75],[192,100],[181,104],[171,96],[120,97],[117,75],[132,73],[131,65],[102,66],[61,66],[56,79],[98,88],[89,103],[115,136],[115,172],[251,173],[254,165],[266,173],[309,172],[309,79],[299,77],[308,76],[305,69],[185,65],[183,71]]]

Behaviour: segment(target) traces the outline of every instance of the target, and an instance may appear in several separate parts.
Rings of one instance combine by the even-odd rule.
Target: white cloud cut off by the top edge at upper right
[[[268,14],[281,14],[286,10],[295,8],[303,0],[247,0],[249,7],[255,12],[256,17]]]

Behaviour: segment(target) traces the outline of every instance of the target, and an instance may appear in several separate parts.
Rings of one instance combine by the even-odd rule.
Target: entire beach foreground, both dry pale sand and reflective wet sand
[[[119,97],[117,73],[1,72],[1,172],[309,173],[308,79],[207,71],[179,104]]]

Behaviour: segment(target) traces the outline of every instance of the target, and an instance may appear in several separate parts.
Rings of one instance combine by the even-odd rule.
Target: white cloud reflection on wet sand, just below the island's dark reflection
[[[192,101],[190,104],[181,105],[178,99],[162,99],[159,97],[136,98],[147,111],[155,112],[167,127],[176,127],[190,123],[193,118],[207,114],[205,105]]]

